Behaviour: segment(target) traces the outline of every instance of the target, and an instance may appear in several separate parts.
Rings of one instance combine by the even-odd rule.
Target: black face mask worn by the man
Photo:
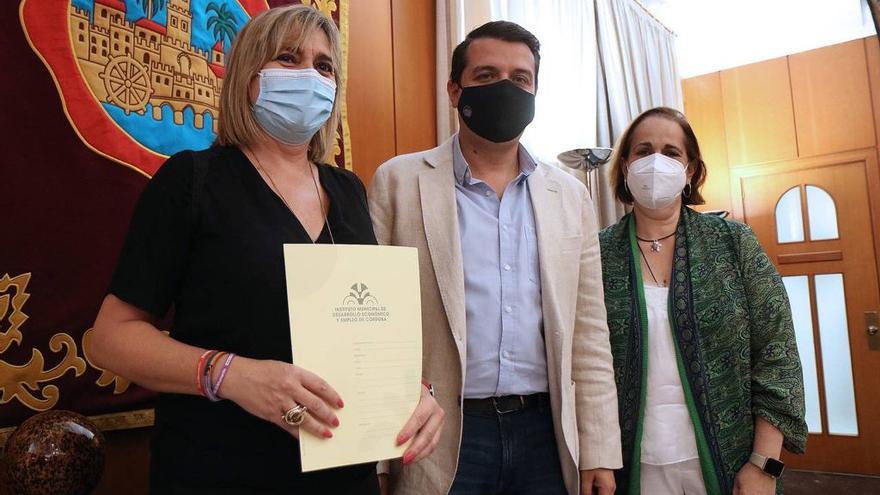
[[[510,79],[461,88],[458,113],[468,129],[493,143],[519,136],[535,118],[535,95]]]

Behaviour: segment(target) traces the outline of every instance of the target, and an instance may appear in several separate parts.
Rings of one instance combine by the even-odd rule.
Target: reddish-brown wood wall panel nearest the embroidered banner
[[[348,126],[354,171],[368,182],[396,152],[390,0],[349,2]]]

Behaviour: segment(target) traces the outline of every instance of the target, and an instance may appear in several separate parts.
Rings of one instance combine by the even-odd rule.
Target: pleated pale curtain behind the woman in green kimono
[[[637,0],[594,0],[598,49],[596,145],[613,147],[629,123],[657,106],[683,109],[675,35]],[[600,225],[624,215],[614,198],[610,165],[593,174]]]

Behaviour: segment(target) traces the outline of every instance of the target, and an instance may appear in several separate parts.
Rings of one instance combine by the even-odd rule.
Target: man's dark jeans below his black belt
[[[547,401],[492,416],[464,415],[450,495],[567,495]]]

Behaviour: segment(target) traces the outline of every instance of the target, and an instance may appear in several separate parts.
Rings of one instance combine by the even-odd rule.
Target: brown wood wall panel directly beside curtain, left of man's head
[[[397,154],[437,144],[434,0],[391,0]],[[445,68],[443,69],[445,72]]]

